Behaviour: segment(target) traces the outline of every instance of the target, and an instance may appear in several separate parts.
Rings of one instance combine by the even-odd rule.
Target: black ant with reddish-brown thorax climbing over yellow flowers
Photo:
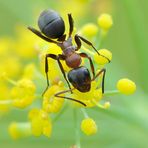
[[[73,86],[76,89],[81,91],[80,87],[82,87],[82,84],[75,85],[76,81],[75,80],[71,81],[72,74],[74,73],[74,71],[76,73],[80,73],[80,74],[82,73],[82,75],[84,74],[84,71],[83,71],[84,67],[83,67],[83,69],[82,69],[82,67],[80,67],[80,64],[82,61],[81,57],[87,58],[89,60],[91,71],[93,74],[93,79],[95,79],[95,71],[94,71],[94,66],[93,66],[93,62],[92,62],[91,57],[88,56],[86,53],[77,53],[76,51],[78,51],[81,48],[81,41],[83,41],[86,44],[90,45],[98,53],[98,55],[100,55],[100,53],[97,51],[97,49],[93,46],[93,44],[90,41],[84,39],[83,37],[81,37],[77,34],[74,36],[74,40],[75,40],[77,46],[74,46],[72,44],[71,35],[73,32],[74,21],[73,21],[71,14],[68,14],[68,20],[69,20],[70,27],[69,27],[69,35],[68,35],[67,39],[66,39],[66,35],[64,34],[65,24],[64,24],[63,19],[56,11],[53,11],[51,9],[43,11],[39,16],[38,26],[39,26],[41,32],[39,32],[38,30],[36,30],[32,27],[28,27],[28,29],[31,30],[33,33],[35,33],[37,36],[39,36],[40,38],[42,38],[43,40],[45,40],[47,42],[55,43],[63,51],[62,54],[58,54],[58,55],[46,54],[45,73],[46,73],[46,78],[47,78],[47,87],[46,87],[45,91],[43,92],[43,94],[46,92],[46,90],[49,87],[48,58],[52,58],[52,59],[57,60],[58,65],[62,71],[62,74],[68,84],[69,91],[71,91],[71,93],[72,93],[72,89],[70,87],[69,81],[73,84]],[[57,39],[57,41],[55,41],[53,39]],[[107,57],[105,57],[103,55],[101,55],[101,56],[106,58],[108,60],[108,62],[110,62],[110,60]],[[64,68],[63,68],[60,60],[65,60],[67,66],[69,66],[70,68],[73,68],[73,70],[68,73],[69,81],[67,80]],[[89,71],[88,71],[88,73],[89,73]],[[89,77],[85,77],[85,76],[83,76],[83,77],[89,78]],[[83,77],[80,76],[79,80]],[[91,81],[89,81],[88,83],[90,85]],[[82,91],[82,92],[86,92],[86,90]]]

